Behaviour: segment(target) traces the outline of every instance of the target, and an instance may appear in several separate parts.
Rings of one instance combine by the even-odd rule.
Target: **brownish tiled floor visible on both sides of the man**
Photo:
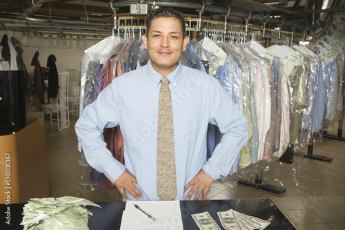
[[[97,184],[90,185],[90,168],[79,164],[76,120],[71,117],[71,127],[60,132],[46,122],[50,196],[73,195],[95,202],[119,200],[115,188],[98,191]],[[328,135],[337,135],[337,124]],[[293,164],[268,161],[250,165],[214,182],[208,199],[270,198],[296,229],[345,229],[345,142],[324,138],[321,144],[314,144],[313,154],[332,157],[333,161],[311,160],[299,154],[294,155]],[[284,187],[286,195],[237,184],[242,178],[254,180],[255,173],[261,171],[264,183]]]

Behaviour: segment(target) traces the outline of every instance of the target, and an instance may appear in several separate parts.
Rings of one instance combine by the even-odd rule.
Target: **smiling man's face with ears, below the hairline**
[[[142,39],[153,68],[163,76],[175,70],[188,44],[188,37],[182,34],[179,21],[167,17],[154,19],[148,35],[143,35]]]

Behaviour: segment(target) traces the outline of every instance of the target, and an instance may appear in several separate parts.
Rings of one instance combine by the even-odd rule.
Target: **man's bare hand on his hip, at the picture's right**
[[[202,197],[202,200],[206,200],[208,190],[210,189],[211,184],[213,183],[213,179],[205,173],[204,170],[200,170],[197,175],[191,180],[186,186],[184,186],[184,193],[190,188],[190,186],[193,186],[192,189],[190,189],[186,200],[189,200],[192,195],[195,193],[194,200],[198,200],[199,196],[201,195],[201,192],[204,190],[204,195]]]

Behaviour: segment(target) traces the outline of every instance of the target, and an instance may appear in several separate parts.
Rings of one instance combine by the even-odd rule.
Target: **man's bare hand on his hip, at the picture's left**
[[[128,191],[128,193],[130,193],[130,195],[138,200],[139,198],[142,198],[143,195],[134,183],[138,184],[137,178],[135,178],[134,175],[130,174],[130,172],[126,169],[124,173],[122,173],[119,178],[117,178],[114,184],[115,186],[117,186],[117,189],[119,189],[121,195],[126,200],[128,199],[128,196],[125,193],[125,189]]]

